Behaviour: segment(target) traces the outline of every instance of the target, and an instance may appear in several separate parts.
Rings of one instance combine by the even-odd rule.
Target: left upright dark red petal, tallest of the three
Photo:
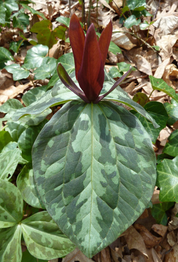
[[[70,39],[70,43],[71,43],[71,47],[72,47],[72,51],[74,55],[75,76],[77,79],[77,74],[81,67],[81,62],[82,62],[82,57],[83,57],[85,35],[83,32],[83,29],[81,28],[78,17],[75,14],[72,15],[71,20],[70,20],[69,39]]]

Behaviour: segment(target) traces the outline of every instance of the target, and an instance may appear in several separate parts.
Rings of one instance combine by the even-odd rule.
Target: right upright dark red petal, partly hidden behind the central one
[[[112,36],[112,22],[110,21],[108,25],[102,31],[102,34],[98,41],[101,55],[102,55],[103,64],[105,64],[105,61],[106,61],[107,52],[108,52],[109,44],[111,41],[111,36]]]

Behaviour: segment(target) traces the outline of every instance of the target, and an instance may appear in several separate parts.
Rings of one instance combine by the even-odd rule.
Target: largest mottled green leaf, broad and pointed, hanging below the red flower
[[[87,257],[112,243],[143,212],[155,186],[155,164],[140,122],[112,102],[67,103],[33,147],[42,201]]]

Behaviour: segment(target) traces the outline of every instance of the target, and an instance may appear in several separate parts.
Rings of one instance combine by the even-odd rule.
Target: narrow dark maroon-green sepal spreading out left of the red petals
[[[74,81],[70,78],[68,73],[66,72],[65,68],[61,63],[58,63],[57,65],[57,73],[60,77],[62,83],[68,87],[72,92],[77,94],[84,102],[90,103],[85,94],[78,88],[78,86],[74,83]]]

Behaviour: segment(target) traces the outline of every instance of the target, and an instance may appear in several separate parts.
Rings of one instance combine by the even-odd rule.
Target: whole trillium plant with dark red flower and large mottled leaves
[[[87,257],[112,243],[141,215],[156,181],[151,138],[118,102],[155,128],[158,125],[118,86],[131,69],[116,82],[105,72],[111,35],[110,21],[99,41],[93,24],[85,37],[78,18],[72,16],[69,38],[75,75],[69,76],[58,64],[61,80],[52,88],[55,101],[51,98],[51,105],[67,103],[44,125],[32,154],[47,212]],[[25,114],[20,109],[16,116],[22,111]]]

